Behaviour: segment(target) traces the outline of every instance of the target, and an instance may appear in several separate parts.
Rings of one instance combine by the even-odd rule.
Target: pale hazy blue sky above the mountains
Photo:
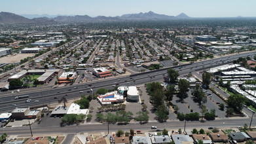
[[[148,12],[191,17],[256,16],[256,0],[1,0],[0,11],[15,14],[120,16]]]

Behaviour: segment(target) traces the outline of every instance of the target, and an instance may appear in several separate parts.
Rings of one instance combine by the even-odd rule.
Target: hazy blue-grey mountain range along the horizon
[[[24,17],[26,16],[26,17]],[[42,16],[42,17],[40,17]],[[31,18],[31,19],[29,19]],[[123,14],[122,16],[96,16],[90,17],[88,15],[76,16],[50,16],[47,14],[18,14],[10,12],[0,12],[0,24],[48,24],[54,22],[118,22],[126,20],[175,20],[190,18],[187,14],[181,13],[177,16],[168,16],[165,14],[156,14],[155,12],[140,12],[138,14]]]

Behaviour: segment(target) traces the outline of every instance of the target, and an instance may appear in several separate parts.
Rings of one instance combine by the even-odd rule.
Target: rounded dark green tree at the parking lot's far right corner
[[[242,111],[243,109],[243,103],[244,103],[244,97],[240,94],[234,94],[229,96],[227,99],[227,105],[234,109],[234,111]]]

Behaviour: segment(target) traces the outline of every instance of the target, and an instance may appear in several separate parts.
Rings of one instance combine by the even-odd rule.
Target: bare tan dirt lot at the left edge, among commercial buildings
[[[12,56],[5,56],[0,58],[0,63],[16,63],[20,62],[20,60],[27,58],[29,56],[34,56],[35,54],[15,54]]]

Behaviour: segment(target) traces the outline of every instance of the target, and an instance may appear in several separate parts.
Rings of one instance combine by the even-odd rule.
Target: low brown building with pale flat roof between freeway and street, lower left
[[[12,118],[15,119],[31,119],[40,117],[40,115],[40,110],[31,110],[29,107],[16,107],[16,109],[12,111]]]

